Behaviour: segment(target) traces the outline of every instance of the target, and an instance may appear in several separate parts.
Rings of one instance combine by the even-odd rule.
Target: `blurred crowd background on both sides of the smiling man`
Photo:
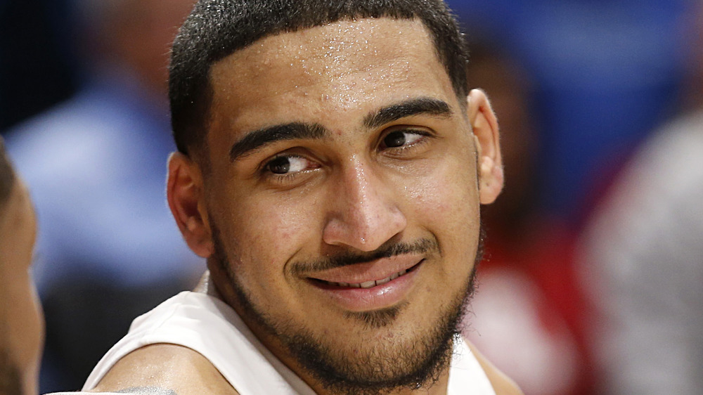
[[[192,0],[0,0],[0,133],[39,215],[41,391],[202,271],[165,202]],[[703,4],[449,0],[505,192],[465,335],[531,394],[702,394]]]

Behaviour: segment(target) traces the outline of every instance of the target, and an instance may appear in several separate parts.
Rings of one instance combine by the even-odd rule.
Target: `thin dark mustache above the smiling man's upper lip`
[[[402,254],[432,254],[439,252],[437,239],[421,238],[414,242],[390,242],[371,252],[344,252],[333,257],[323,257],[314,261],[293,262],[294,274],[325,271],[331,268],[363,264],[376,259],[394,257]]]

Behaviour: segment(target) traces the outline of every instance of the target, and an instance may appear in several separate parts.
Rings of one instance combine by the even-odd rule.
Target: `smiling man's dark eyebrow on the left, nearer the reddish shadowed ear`
[[[234,162],[240,157],[249,155],[256,150],[260,150],[266,145],[276,141],[295,140],[297,138],[319,139],[328,135],[327,129],[320,124],[306,124],[303,122],[292,122],[290,124],[279,124],[272,127],[265,127],[251,131],[240,141],[232,145],[229,150],[229,160]]]

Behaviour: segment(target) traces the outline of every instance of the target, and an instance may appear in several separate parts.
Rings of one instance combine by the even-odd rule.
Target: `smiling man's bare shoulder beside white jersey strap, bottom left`
[[[117,361],[93,392],[144,395],[238,394],[212,363],[186,347],[153,344]]]

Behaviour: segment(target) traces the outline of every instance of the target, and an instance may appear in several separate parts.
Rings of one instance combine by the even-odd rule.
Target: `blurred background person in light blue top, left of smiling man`
[[[89,77],[7,141],[39,221],[34,271],[47,335],[41,391],[80,387],[135,316],[192,287],[202,267],[173,224],[163,167],[175,149],[169,45],[193,1],[74,6]]]

